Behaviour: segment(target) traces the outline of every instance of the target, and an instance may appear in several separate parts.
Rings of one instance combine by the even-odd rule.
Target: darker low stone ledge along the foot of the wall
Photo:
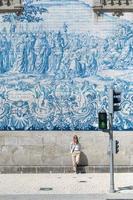
[[[109,173],[109,166],[79,166],[79,173]],[[115,166],[115,173],[132,173],[133,166]],[[72,173],[72,166],[0,166],[1,174]]]

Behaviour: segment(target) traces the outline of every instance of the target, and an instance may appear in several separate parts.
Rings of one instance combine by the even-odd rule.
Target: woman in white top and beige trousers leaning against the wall
[[[78,172],[77,166],[80,161],[80,150],[81,150],[81,145],[79,143],[79,139],[77,135],[73,136],[73,141],[71,143],[70,149],[71,149],[71,154],[72,154],[73,171],[77,173]]]

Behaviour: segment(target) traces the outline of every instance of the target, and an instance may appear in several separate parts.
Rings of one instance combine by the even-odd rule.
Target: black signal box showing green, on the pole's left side
[[[107,129],[107,113],[105,111],[98,113],[98,127],[102,130]]]

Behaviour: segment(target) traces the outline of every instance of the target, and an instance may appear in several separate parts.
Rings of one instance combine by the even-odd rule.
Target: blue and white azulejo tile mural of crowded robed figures
[[[91,0],[25,0],[23,15],[0,15],[0,130],[97,130],[110,84],[122,91],[114,129],[133,130],[132,77],[130,16],[98,19]]]

